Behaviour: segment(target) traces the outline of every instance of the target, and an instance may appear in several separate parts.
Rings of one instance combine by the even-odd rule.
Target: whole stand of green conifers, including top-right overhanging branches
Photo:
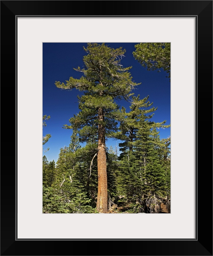
[[[55,82],[81,95],[79,113],[63,126],[71,130],[69,146],[56,162],[43,156],[43,213],[170,213],[170,136],[159,135],[170,124],[154,122],[149,95],[134,93],[139,84],[131,66],[122,65],[125,49],[88,43],[84,51],[83,68],[74,68],[82,77]],[[132,54],[170,81],[170,43],[138,43]],[[43,129],[50,118],[43,115]],[[121,142],[107,147],[109,138]],[[49,140],[51,134],[43,135],[43,145]]]

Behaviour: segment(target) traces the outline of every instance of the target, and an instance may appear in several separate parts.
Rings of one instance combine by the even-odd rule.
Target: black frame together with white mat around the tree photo
[[[16,121],[9,189],[1,171],[1,255],[70,255],[77,241],[119,249],[75,255],[127,255],[118,241],[131,242],[128,255],[212,255],[212,1],[1,1],[1,23]],[[171,43],[171,213],[43,214],[43,43],[144,41]]]

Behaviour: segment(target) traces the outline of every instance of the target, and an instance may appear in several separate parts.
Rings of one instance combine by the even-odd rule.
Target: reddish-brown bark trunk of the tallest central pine
[[[99,213],[108,213],[107,155],[105,145],[105,127],[102,123],[104,121],[103,108],[99,108],[98,118],[101,122],[98,129],[98,198],[96,207]]]

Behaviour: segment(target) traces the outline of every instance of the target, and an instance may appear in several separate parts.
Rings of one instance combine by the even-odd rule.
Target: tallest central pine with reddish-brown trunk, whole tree
[[[83,58],[84,68],[75,69],[83,76],[80,79],[70,77],[66,84],[57,81],[55,84],[61,89],[76,88],[84,92],[78,97],[81,111],[70,118],[71,126],[65,125],[65,128],[78,130],[81,141],[98,137],[97,211],[107,213],[106,138],[117,127],[119,106],[115,100],[128,99],[137,84],[128,72],[131,67],[124,68],[120,64],[125,53],[122,47],[113,49],[105,43],[88,43],[84,50],[87,53]]]

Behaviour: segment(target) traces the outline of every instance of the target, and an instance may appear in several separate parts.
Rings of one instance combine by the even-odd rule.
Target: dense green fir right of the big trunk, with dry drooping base
[[[159,213],[161,211],[161,198],[165,198],[170,189],[168,184],[170,170],[167,169],[166,177],[159,131],[153,124],[151,125],[152,128],[149,132],[148,129],[145,132],[144,128],[138,131],[140,140],[136,143],[136,154],[138,155],[137,159],[140,157],[142,197],[145,205],[150,213]]]

